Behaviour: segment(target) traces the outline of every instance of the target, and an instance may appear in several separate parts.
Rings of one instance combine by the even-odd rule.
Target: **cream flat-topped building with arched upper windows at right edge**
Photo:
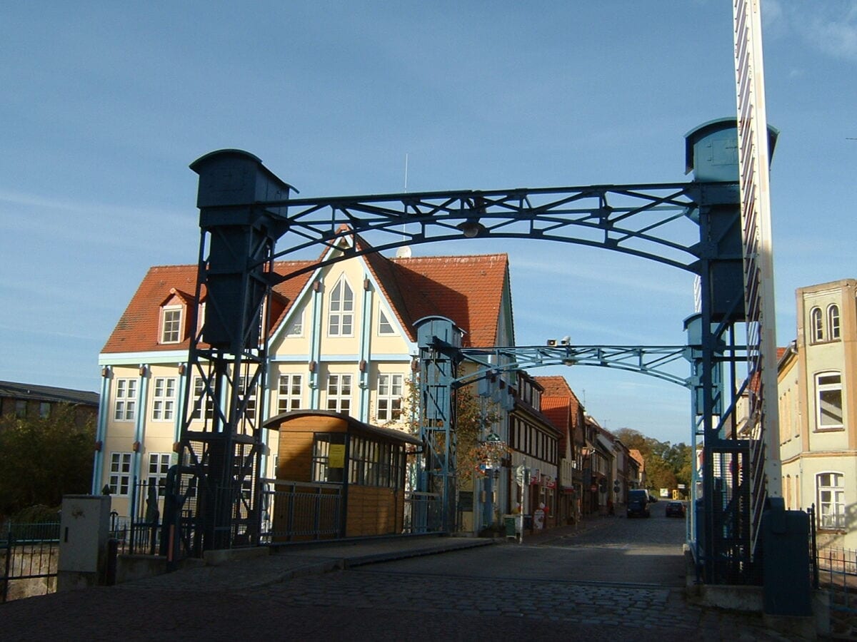
[[[778,366],[782,496],[816,507],[818,543],[857,549],[857,281],[796,292]]]

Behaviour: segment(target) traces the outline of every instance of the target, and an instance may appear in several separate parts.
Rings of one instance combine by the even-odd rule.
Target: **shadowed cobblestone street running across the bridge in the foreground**
[[[682,527],[663,518],[596,518],[525,544],[408,544],[419,556],[393,555],[391,546],[405,544],[389,542],[282,552],[7,603],[0,639],[787,639],[767,630],[761,615],[686,603],[678,581],[635,579],[646,564],[671,563],[674,555],[660,547],[675,547],[660,538]],[[627,532],[639,541],[623,544]],[[430,545],[448,552],[425,555],[421,547]],[[625,581],[598,579],[590,556],[604,560],[604,550],[629,568]],[[347,561],[336,562],[341,555]],[[384,555],[392,561],[379,562]]]

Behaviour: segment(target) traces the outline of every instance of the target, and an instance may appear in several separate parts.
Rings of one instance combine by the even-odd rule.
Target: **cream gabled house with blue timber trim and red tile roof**
[[[287,410],[321,409],[405,428],[414,322],[423,317],[452,319],[465,347],[514,344],[506,254],[387,258],[370,250],[351,235],[318,260],[275,263],[280,274],[305,271],[274,288],[267,389],[245,392],[259,425]],[[314,267],[344,252],[357,256]],[[160,482],[177,462],[195,283],[195,265],[148,270],[99,354],[93,492],[109,490],[120,518],[139,511],[135,484]],[[205,303],[203,292],[199,318]],[[211,412],[200,408],[195,419]],[[270,443],[261,473],[273,477],[277,435],[263,432]]]

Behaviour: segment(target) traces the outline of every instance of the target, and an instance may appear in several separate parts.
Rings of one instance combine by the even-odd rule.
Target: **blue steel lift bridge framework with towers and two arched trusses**
[[[425,459],[430,455],[434,464],[423,475],[422,490],[444,498],[444,526],[454,511],[450,389],[468,378],[459,377],[458,364],[476,362],[475,377],[556,363],[620,367],[692,389],[694,443],[701,437],[704,444],[698,561],[706,582],[746,581],[766,482],[778,487],[779,479],[778,469],[766,466],[770,427],[764,415],[754,412],[748,425],[736,425],[741,396],[749,395],[758,408],[764,389],[760,348],[746,348],[741,327],[758,324],[746,314],[758,297],[758,283],[745,285],[736,131],[734,119],[723,119],[686,135],[686,170],[693,172],[686,183],[296,199],[290,185],[247,152],[212,152],[195,161],[201,227],[196,296],[201,300],[204,294],[205,319],[192,337],[185,376],[201,377],[203,386],[195,398],[193,387],[184,386],[182,465],[172,475],[172,503],[165,510],[172,555],[258,541],[263,444],[260,420],[247,412],[249,395],[243,391],[267,385],[267,337],[261,336],[268,327],[266,301],[275,283],[360,251],[348,248],[338,258],[285,276],[273,271],[275,259],[337,246],[352,233],[364,235],[374,251],[518,238],[601,247],[686,270],[701,284],[700,309],[686,323],[687,345],[674,347],[461,349],[451,321],[425,320],[418,328],[421,437]],[[772,150],[776,133],[770,130],[769,136]],[[690,362],[688,377],[668,374],[664,366],[677,359]],[[192,430],[191,418],[201,407],[212,407],[213,419],[203,430]],[[766,472],[776,479],[766,480]]]

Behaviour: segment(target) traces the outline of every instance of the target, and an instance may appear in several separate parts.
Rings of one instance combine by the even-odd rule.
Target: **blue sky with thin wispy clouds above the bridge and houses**
[[[794,289],[857,276],[857,2],[763,0],[778,341]],[[302,197],[686,181],[734,115],[731,3],[35,2],[0,8],[0,379],[99,386],[150,265],[194,263],[189,163],[245,149]],[[507,252],[519,344],[680,343],[692,278],[620,254]],[[563,374],[609,429],[690,440],[686,390]]]

